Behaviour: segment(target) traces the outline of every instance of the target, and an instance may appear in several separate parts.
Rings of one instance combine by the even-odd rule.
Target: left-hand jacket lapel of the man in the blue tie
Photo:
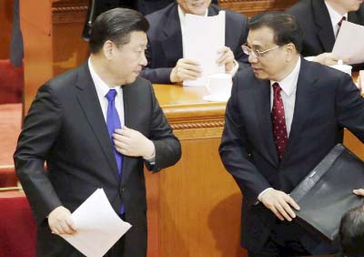
[[[76,98],[86,116],[87,122],[95,133],[110,169],[113,170],[113,174],[116,180],[118,180],[119,175],[113,146],[108,135],[105,118],[99,105],[96,88],[91,78],[87,62],[80,67],[76,87],[79,89],[76,91]]]

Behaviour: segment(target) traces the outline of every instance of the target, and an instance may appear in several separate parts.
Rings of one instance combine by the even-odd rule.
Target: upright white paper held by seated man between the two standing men
[[[186,15],[184,43],[184,58],[196,60],[202,76],[184,81],[183,86],[204,87],[208,75],[225,73],[225,67],[217,65],[217,51],[225,46],[225,11],[215,16]]]

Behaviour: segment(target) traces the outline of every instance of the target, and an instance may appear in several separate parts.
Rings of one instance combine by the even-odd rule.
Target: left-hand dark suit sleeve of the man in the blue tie
[[[16,174],[38,224],[62,205],[45,171],[45,159],[56,142],[61,120],[61,108],[51,88],[41,87],[25,118],[14,154]]]

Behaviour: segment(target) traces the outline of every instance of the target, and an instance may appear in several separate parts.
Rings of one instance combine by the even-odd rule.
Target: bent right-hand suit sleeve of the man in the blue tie
[[[181,158],[181,145],[173,134],[166,116],[160,108],[153,87],[151,88],[152,117],[150,123],[150,138],[156,147],[156,162],[147,164],[152,171],[159,171],[174,165]]]

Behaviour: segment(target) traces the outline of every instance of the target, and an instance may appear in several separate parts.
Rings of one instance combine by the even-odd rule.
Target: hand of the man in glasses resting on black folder
[[[280,221],[292,221],[296,213],[291,207],[299,211],[299,206],[287,193],[280,190],[267,190],[260,198],[260,201],[277,216]]]

